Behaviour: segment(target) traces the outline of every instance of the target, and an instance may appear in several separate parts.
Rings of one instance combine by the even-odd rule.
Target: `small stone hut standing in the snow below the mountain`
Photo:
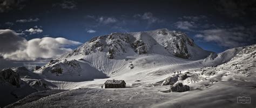
[[[105,88],[125,88],[124,80],[106,80]]]

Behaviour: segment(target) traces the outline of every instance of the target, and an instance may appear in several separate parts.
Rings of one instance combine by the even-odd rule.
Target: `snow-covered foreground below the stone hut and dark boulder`
[[[255,79],[255,78],[254,78]],[[255,81],[255,80],[254,80]],[[17,107],[255,107],[255,82],[217,82],[206,89],[168,92],[169,86],[125,89],[76,89],[52,94]],[[40,93],[38,93],[40,94]],[[251,104],[238,104],[237,97],[251,97]],[[12,105],[10,105],[12,106]]]

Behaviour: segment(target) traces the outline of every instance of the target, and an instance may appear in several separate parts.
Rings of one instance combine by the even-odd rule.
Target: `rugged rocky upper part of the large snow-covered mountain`
[[[110,35],[94,37],[58,59],[66,59],[72,56],[84,57],[96,52],[104,52],[110,59],[153,53],[173,55],[184,59],[201,59],[210,54],[210,52],[204,51],[195,45],[193,39],[190,39],[185,33],[164,28],[144,32],[114,32]],[[203,52],[203,54],[199,55],[197,52]]]

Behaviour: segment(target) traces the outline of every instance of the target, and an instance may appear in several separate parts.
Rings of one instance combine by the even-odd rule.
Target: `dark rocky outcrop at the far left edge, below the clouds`
[[[9,69],[2,70],[1,75],[6,82],[10,83],[11,85],[20,87],[19,74],[17,72],[15,72],[9,68]]]

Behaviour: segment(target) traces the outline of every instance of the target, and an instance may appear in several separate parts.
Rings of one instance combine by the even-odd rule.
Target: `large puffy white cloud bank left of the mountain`
[[[65,38],[35,38],[26,40],[12,30],[0,30],[1,52],[4,59],[10,60],[36,60],[38,58],[56,58],[72,49],[71,45],[82,43]]]

